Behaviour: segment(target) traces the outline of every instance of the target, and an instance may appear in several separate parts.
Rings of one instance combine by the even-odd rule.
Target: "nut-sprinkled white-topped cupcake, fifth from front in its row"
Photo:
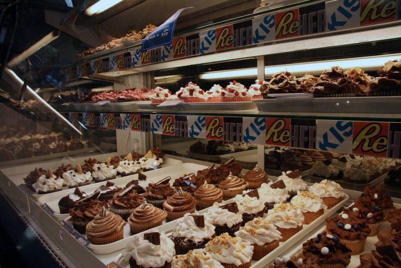
[[[323,215],[327,206],[320,197],[308,191],[298,191],[298,194],[291,199],[291,204],[301,209],[304,215],[303,224],[310,224]]]

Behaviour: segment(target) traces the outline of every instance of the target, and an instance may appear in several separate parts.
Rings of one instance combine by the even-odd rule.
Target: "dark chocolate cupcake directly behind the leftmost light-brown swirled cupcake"
[[[99,191],[77,201],[73,208],[70,209],[70,221],[74,228],[80,232],[85,233],[86,225],[95,218],[95,216],[108,205],[105,201],[97,199]]]

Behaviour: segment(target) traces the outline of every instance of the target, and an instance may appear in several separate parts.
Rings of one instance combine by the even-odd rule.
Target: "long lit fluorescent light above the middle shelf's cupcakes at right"
[[[304,75],[306,73],[320,74],[322,71],[330,69],[332,66],[340,66],[344,70],[353,67],[360,67],[365,71],[375,71],[383,66],[387,61],[401,58],[401,54],[391,54],[383,56],[372,56],[353,59],[341,59],[330,61],[317,61],[309,63],[294,63],[289,65],[274,65],[265,67],[265,77],[271,77],[273,74],[289,71],[294,75]],[[219,72],[210,72],[200,74],[201,80],[218,80],[231,78],[256,78],[257,68],[237,69]]]

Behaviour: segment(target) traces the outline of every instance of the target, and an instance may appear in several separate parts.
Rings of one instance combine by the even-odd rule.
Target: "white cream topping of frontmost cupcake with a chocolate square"
[[[152,230],[152,232],[158,231]],[[134,239],[122,252],[126,262],[133,258],[136,264],[143,267],[161,267],[165,262],[171,262],[174,254],[174,242],[164,232],[160,232],[160,245],[154,245],[149,240],[143,239],[143,234],[134,235]]]

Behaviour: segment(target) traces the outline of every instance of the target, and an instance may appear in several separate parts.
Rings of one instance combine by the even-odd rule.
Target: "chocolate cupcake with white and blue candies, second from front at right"
[[[304,258],[317,259],[319,267],[347,267],[351,262],[351,250],[335,235],[319,233],[302,244]]]

